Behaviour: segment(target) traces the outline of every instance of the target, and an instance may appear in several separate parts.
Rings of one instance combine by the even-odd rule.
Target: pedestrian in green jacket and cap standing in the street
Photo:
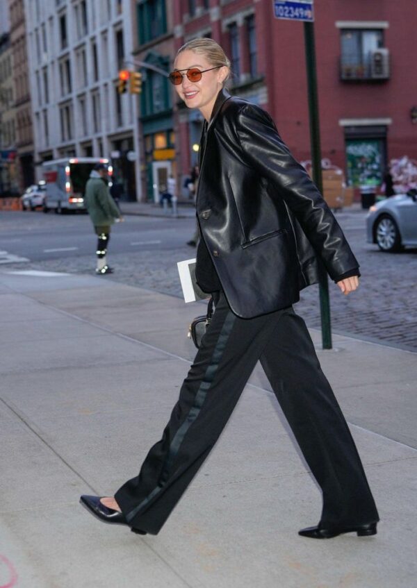
[[[106,184],[107,167],[97,163],[85,185],[85,205],[90,215],[97,242],[97,268],[96,274],[111,274],[113,268],[108,267],[106,253],[110,240],[110,229],[114,222],[122,221],[120,211],[108,191]]]

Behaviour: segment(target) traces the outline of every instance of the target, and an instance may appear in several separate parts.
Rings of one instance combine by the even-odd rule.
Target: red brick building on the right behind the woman
[[[316,0],[322,156],[352,185],[381,183],[391,158],[417,156],[414,0]],[[300,160],[309,160],[301,23],[275,19],[270,0],[174,0],[174,46],[211,36],[231,58],[234,94],[259,103]],[[174,98],[174,102],[177,99]],[[178,168],[196,159],[202,119],[176,105]]]

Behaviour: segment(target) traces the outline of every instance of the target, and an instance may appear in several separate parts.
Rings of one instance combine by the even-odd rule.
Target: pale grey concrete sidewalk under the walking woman
[[[375,494],[376,537],[297,535],[318,522],[320,494],[259,367],[160,534],[141,537],[94,519],[79,495],[136,475],[204,306],[33,271],[1,271],[0,303],[1,587],[416,585],[415,353],[337,335],[318,350]]]

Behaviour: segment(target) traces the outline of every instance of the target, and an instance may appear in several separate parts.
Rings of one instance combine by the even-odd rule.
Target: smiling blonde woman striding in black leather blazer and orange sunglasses
[[[215,313],[162,439],[114,497],[82,496],[99,519],[156,535],[213,448],[258,360],[322,489],[315,539],[375,535],[378,513],[350,431],[292,305],[318,258],[349,294],[359,264],[271,117],[230,96],[230,62],[211,39],[177,53],[170,81],[204,116],[197,281]],[[260,426],[254,423],[254,426]]]

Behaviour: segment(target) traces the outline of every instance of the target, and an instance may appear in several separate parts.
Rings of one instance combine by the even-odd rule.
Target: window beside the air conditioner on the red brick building
[[[384,46],[382,30],[351,28],[341,30],[342,79],[371,77],[373,51]]]

